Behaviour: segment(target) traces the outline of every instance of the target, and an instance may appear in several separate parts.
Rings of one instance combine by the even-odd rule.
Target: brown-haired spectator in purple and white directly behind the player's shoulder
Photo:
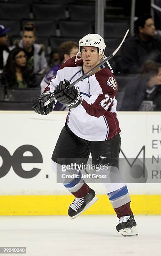
[[[41,86],[41,93],[44,92],[45,87],[50,83],[50,80],[52,77],[54,77],[57,74],[57,70],[61,66],[61,64],[66,61],[69,58],[72,58],[73,56],[76,56],[77,52],[79,51],[77,42],[74,41],[66,41],[62,44],[60,44],[58,48],[58,54],[59,54],[59,62],[57,62],[57,65],[52,67],[45,77],[42,79],[42,82],[40,84]],[[55,106],[54,110],[64,110],[66,108],[63,107],[63,105],[59,102],[57,102],[57,105]]]

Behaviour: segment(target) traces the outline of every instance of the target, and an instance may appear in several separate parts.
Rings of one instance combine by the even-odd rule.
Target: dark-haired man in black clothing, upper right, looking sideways
[[[127,39],[121,49],[121,69],[124,74],[140,74],[148,60],[161,62],[161,39],[155,34],[151,15],[136,20],[136,35]]]

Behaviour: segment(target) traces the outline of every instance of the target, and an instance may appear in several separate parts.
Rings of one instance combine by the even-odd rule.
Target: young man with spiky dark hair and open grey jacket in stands
[[[35,44],[36,28],[32,22],[26,23],[22,31],[22,40],[16,41],[15,45],[23,48],[27,56],[27,62],[36,74],[43,74],[47,68],[44,45]]]

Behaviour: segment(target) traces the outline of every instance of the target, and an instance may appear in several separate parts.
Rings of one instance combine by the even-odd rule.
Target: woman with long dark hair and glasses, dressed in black
[[[35,74],[30,74],[26,54],[22,48],[14,48],[10,51],[2,72],[1,84],[13,89],[36,87],[38,85]]]

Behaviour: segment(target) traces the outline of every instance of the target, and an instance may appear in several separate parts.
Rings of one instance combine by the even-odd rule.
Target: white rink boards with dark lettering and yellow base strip
[[[0,111],[0,215],[66,215],[73,196],[57,184],[51,155],[66,112]],[[120,112],[121,150],[135,158],[161,158],[161,113]],[[64,143],[65,146],[65,143]],[[141,153],[142,154],[142,153]],[[120,157],[122,157],[120,153]],[[161,175],[154,182],[128,184],[138,214],[161,214]],[[92,184],[99,200],[84,214],[113,214],[102,184]]]

